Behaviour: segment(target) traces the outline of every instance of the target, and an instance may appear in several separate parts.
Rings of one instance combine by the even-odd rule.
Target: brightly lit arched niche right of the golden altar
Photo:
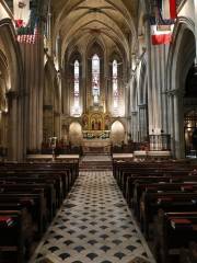
[[[111,140],[114,146],[123,146],[125,141],[125,127],[121,122],[115,121],[112,124]]]

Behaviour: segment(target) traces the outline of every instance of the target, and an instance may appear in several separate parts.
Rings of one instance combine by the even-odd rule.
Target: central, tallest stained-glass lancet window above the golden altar
[[[95,54],[92,57],[92,95],[93,104],[100,103],[100,58]]]

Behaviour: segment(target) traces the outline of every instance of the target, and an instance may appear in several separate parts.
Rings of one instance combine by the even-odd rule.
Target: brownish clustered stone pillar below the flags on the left
[[[42,34],[39,34],[42,36]],[[43,89],[44,89],[44,43],[20,44],[24,64],[25,124],[27,149],[40,150],[43,140]]]

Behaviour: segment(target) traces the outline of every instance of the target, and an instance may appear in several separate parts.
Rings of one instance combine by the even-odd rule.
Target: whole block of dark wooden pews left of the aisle
[[[0,263],[24,263],[79,174],[79,162],[0,164]]]

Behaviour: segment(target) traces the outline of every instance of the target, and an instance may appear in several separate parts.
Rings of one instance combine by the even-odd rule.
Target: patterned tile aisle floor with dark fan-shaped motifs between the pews
[[[154,262],[111,171],[80,172],[31,263],[44,258],[56,263]]]

